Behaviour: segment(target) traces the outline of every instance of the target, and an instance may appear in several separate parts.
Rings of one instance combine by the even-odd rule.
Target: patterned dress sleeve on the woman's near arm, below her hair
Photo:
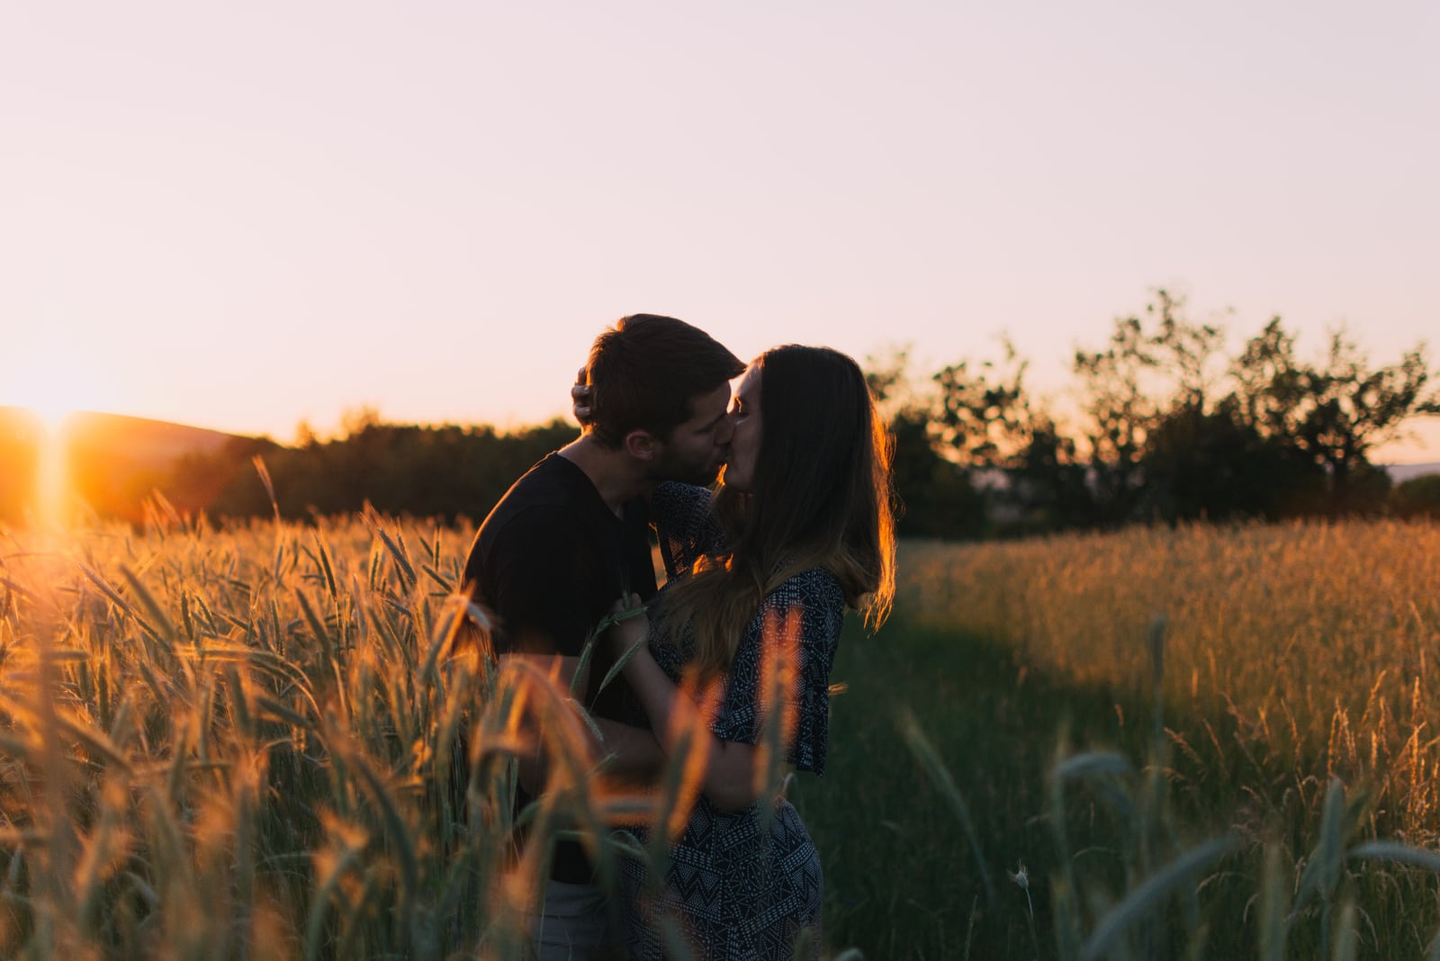
[[[793,722],[785,760],[796,770],[824,774],[829,737],[829,672],[845,623],[845,596],[825,570],[796,574],[766,594],[736,652],[724,698],[710,729],[726,741],[744,744],[759,744],[765,737],[770,703],[763,665],[785,646],[788,623],[796,624],[793,652],[799,663],[782,701],[786,727]]]

